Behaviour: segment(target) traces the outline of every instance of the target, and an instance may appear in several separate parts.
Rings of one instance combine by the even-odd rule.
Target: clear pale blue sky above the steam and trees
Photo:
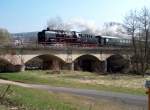
[[[11,33],[40,31],[51,18],[102,26],[123,22],[131,9],[150,8],[150,0],[0,0],[0,28]]]

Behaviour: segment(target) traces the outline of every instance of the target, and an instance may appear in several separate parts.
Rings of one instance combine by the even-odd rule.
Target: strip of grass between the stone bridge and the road
[[[141,76],[98,75],[77,71],[61,71],[61,74],[51,74],[51,71],[1,73],[0,78],[24,83],[106,90],[138,95],[145,95],[144,81],[146,79]]]

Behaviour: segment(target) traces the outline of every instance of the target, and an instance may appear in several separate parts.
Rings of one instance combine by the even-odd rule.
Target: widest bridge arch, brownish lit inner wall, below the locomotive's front
[[[63,68],[65,61],[58,56],[52,54],[35,55],[26,60],[26,69],[53,69],[59,70]]]

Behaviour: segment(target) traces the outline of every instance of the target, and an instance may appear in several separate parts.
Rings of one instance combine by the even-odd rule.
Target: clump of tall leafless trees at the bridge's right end
[[[148,68],[149,33],[150,33],[150,12],[147,8],[140,11],[130,11],[125,17],[127,32],[132,37],[134,50],[134,70],[144,75]]]

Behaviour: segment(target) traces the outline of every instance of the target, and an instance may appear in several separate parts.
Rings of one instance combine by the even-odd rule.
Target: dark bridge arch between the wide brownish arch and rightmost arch
[[[101,61],[96,56],[91,54],[81,55],[77,57],[73,63],[74,70],[99,72],[101,69]]]

